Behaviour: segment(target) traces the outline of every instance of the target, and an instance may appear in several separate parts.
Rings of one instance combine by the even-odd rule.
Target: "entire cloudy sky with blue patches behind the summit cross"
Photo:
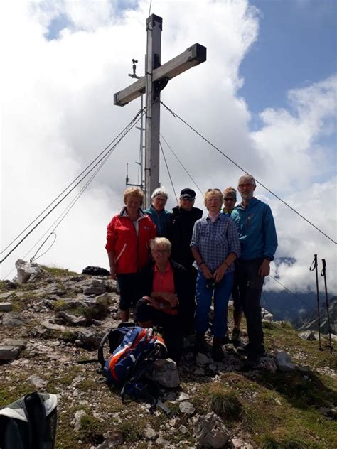
[[[132,58],[144,74],[149,6],[149,0],[1,3],[1,258],[139,111],[139,99],[116,107],[113,94],[132,82]],[[196,42],[208,52],[205,63],[169,82],[164,103],[336,241],[336,1],[153,0],[151,13],[163,17],[162,63]],[[242,172],[164,108],[161,134],[201,190],[237,185]],[[193,187],[162,143],[176,191]],[[107,267],[106,225],[122,206],[127,163],[130,182],[138,182],[138,159],[139,131],[132,129],[39,263],[79,272]],[[164,163],[161,183],[171,208]],[[1,264],[1,278],[15,275],[16,259],[33,256],[81,187]],[[336,293],[336,244],[264,188],[256,195],[274,212],[277,256],[296,259],[272,264],[272,273],[292,291],[311,290],[309,265],[317,253]],[[203,207],[200,193],[196,205]],[[270,280],[268,288],[281,287]]]

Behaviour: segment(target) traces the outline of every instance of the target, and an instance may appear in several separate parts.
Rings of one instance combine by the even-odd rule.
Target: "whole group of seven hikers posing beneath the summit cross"
[[[228,335],[228,301],[232,295],[234,328],[231,341],[258,364],[264,355],[261,294],[264,278],[277,249],[277,234],[269,205],[254,197],[255,179],[240,177],[235,188],[210,188],[203,210],[194,207],[196,192],[181,190],[179,205],[165,209],[168,192],[156,188],[151,206],[142,210],[144,193],[124,191],[124,207],[107,226],[110,274],[120,290],[122,322],[130,310],[139,326],[162,328],[169,357],[178,360],[183,337],[195,334],[194,352],[205,352],[205,332],[214,313],[212,357],[224,358]],[[249,342],[242,345],[242,313]]]

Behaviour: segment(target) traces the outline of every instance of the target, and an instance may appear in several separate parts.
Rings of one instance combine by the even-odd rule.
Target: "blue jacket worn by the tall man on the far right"
[[[230,217],[239,231],[240,259],[274,259],[277,234],[269,205],[253,197],[246,207],[237,205]]]

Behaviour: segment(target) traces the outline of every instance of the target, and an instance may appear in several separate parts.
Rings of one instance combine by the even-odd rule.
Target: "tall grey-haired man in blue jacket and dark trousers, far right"
[[[230,216],[237,225],[241,244],[236,269],[249,338],[245,352],[251,365],[257,364],[264,355],[260,300],[264,278],[269,275],[269,265],[277,249],[272,210],[253,196],[255,188],[255,179],[251,175],[241,176],[237,189],[242,202]]]

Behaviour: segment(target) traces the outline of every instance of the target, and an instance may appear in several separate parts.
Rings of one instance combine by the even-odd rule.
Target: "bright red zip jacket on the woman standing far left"
[[[107,252],[114,253],[117,273],[136,273],[149,263],[149,241],[156,237],[156,226],[140,211],[138,236],[125,215],[125,207],[107,225]]]

